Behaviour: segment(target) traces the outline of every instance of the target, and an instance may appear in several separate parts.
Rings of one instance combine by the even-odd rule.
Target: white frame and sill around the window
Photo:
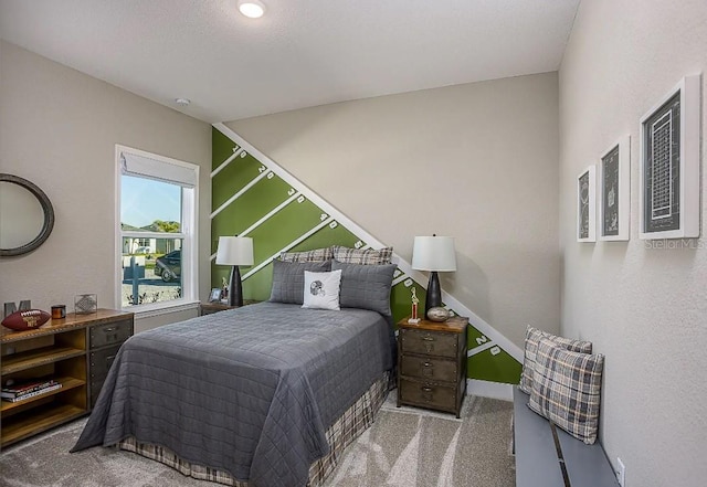
[[[157,163],[169,163],[180,169],[193,171],[193,188],[182,186],[181,195],[181,232],[124,232],[120,225],[120,201],[122,201],[122,156],[123,153],[135,155],[141,158],[151,159]],[[135,313],[137,316],[149,317],[166,313],[191,309],[199,304],[199,166],[177,159],[172,159],[133,147],[115,146],[115,303],[126,311]],[[176,181],[168,182],[178,183]],[[123,239],[181,239],[181,298],[169,301],[150,303],[146,305],[131,305],[123,307]]]

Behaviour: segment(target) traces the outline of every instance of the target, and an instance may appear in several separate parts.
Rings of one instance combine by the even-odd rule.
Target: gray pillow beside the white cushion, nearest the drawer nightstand
[[[344,308],[362,308],[390,316],[390,287],[395,264],[346,264],[331,262],[331,271],[341,269],[339,304]]]

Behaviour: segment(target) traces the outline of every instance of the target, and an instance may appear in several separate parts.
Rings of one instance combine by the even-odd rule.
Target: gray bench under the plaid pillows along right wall
[[[599,442],[587,445],[528,407],[514,387],[516,487],[619,487]]]

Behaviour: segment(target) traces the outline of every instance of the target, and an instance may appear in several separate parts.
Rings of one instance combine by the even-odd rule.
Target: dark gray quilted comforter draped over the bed
[[[257,487],[304,486],[326,428],[392,367],[389,334],[374,311],[275,303],[138,334],[72,451],[131,435]]]

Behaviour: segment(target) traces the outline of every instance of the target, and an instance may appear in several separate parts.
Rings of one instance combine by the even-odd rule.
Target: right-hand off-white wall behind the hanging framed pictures
[[[659,250],[637,239],[639,120],[684,75],[706,71],[706,25],[705,0],[583,1],[560,70],[562,331],[606,356],[601,437],[629,487],[707,478],[706,242]],[[703,74],[703,98],[706,88]],[[576,178],[624,134],[631,241],[579,244]],[[704,235],[704,176],[701,188]]]

